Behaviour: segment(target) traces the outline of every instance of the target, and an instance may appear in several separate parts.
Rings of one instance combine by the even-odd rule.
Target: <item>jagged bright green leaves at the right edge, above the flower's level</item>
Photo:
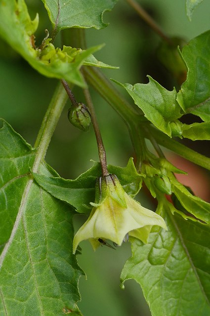
[[[191,40],[181,52],[187,79],[181,89],[168,91],[149,77],[149,83],[118,83],[133,98],[145,117],[168,136],[210,139],[210,31]],[[205,123],[182,124],[178,118],[193,113]]]

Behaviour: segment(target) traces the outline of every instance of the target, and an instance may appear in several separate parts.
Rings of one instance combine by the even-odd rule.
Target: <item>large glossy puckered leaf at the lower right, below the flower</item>
[[[130,238],[122,282],[141,285],[153,316],[210,315],[210,227],[172,215],[167,204],[161,215],[168,231],[153,228],[148,244]]]

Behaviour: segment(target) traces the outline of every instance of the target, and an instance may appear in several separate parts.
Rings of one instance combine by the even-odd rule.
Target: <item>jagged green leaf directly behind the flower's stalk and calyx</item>
[[[125,168],[109,165],[108,170],[117,175],[124,190],[131,197],[139,192],[142,176],[137,173],[132,158],[129,159]],[[101,166],[100,163],[94,163],[89,170],[75,180],[37,173],[33,175],[37,183],[53,197],[74,206],[79,213],[89,213],[92,208],[90,202],[94,202],[95,198],[95,182],[101,176]]]

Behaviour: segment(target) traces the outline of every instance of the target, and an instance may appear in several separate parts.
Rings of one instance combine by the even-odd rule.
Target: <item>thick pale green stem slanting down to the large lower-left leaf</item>
[[[62,110],[66,104],[68,95],[64,90],[61,83],[57,86],[46,114],[42,120],[42,125],[35,142],[35,148],[37,148],[37,156],[33,166],[33,172],[37,172],[40,162],[46,155],[49,142],[57,125],[58,119],[62,113]]]

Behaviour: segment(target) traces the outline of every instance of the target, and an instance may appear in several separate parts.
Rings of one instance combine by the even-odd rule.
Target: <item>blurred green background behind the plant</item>
[[[192,22],[186,17],[184,0],[138,2],[169,36],[180,36],[188,41],[210,29],[208,0],[204,0],[196,8]],[[36,33],[36,43],[39,46],[45,36],[44,30],[51,30],[48,16],[41,0],[27,0],[26,3],[32,18],[36,12],[40,15],[40,25]],[[104,20],[110,23],[107,28],[99,31],[86,30],[88,47],[106,43],[101,51],[95,53],[96,58],[107,64],[120,66],[120,70],[103,70],[103,73],[109,78],[131,84],[148,82],[146,75],[149,74],[166,88],[172,89],[174,80],[156,56],[159,37],[141,21],[126,1],[119,0],[111,12],[104,14]],[[60,45],[59,38],[56,44]],[[42,77],[0,41],[0,117],[8,121],[32,145],[56,84],[56,79]],[[92,89],[90,91],[108,163],[125,166],[128,158],[134,156],[126,126],[97,93]],[[126,96],[123,90],[120,92]],[[75,96],[78,101],[84,100],[79,88],[75,89]],[[129,98],[128,100],[130,101]],[[90,159],[98,161],[98,156],[93,129],[84,133],[71,126],[67,118],[69,107],[70,103],[61,115],[46,161],[62,177],[74,179],[92,165]],[[199,149],[201,152],[204,150]],[[207,154],[205,150],[203,153]],[[153,207],[142,193],[138,198],[144,206]],[[83,221],[83,216],[77,217],[76,229]],[[86,241],[81,246],[83,255],[78,260],[87,280],[84,277],[80,280],[82,302],[78,305],[84,316],[149,316],[149,308],[137,283],[133,280],[126,281],[124,291],[119,287],[121,270],[131,254],[129,243],[117,250],[103,246],[96,252],[93,252]]]

